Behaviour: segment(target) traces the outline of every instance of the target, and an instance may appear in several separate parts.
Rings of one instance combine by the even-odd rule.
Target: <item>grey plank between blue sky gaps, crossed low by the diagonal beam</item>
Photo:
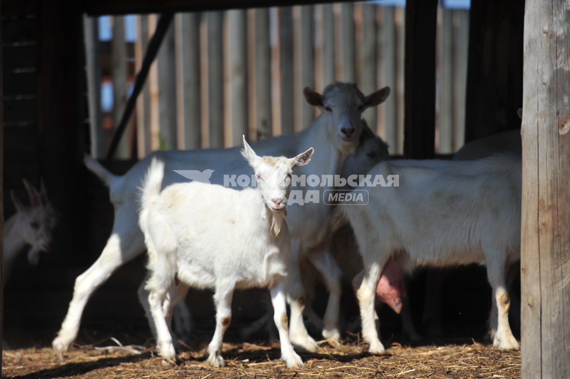
[[[119,125],[119,120],[125,105],[127,104],[127,49],[125,46],[125,18],[123,16],[113,17],[113,39],[111,41],[111,75],[113,79],[113,124],[115,128]],[[129,135],[131,135],[132,124],[129,122],[127,130],[121,136],[115,157],[117,159],[128,159]]]

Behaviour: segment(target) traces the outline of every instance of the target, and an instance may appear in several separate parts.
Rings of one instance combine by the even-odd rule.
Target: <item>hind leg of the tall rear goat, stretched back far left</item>
[[[52,342],[52,347],[60,359],[63,359],[63,352],[67,351],[77,337],[83,309],[93,292],[117,268],[144,251],[143,234],[136,225],[136,220],[133,225],[129,225],[129,220],[123,218],[123,224],[120,225],[117,216],[118,214],[115,226],[119,225],[120,230],[117,230],[119,228],[113,230],[99,259],[75,279],[74,294],[66,318],[63,320],[58,336]],[[128,226],[132,226],[131,229]]]

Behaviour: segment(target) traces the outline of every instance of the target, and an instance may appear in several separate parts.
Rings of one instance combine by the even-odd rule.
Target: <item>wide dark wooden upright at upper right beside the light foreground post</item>
[[[465,142],[520,127],[523,17],[519,0],[471,4]]]

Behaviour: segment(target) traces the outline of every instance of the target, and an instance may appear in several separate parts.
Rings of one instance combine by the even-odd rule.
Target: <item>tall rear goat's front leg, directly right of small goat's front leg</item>
[[[300,243],[291,241],[291,255],[288,262],[287,298],[291,307],[291,320],[289,324],[289,338],[296,347],[309,352],[319,348],[316,341],[307,333],[303,323],[303,309],[305,308],[305,290],[300,272]]]

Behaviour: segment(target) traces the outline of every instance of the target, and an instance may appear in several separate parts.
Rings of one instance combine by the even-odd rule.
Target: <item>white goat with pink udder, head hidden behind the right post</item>
[[[486,265],[499,310],[491,320],[493,345],[518,349],[508,324],[505,276],[506,267],[520,258],[520,157],[382,162],[369,174],[398,175],[399,186],[367,188],[367,206],[347,205],[339,211],[355,231],[364,262],[355,287],[370,352],[384,352],[374,324],[374,290],[390,257],[408,270]]]

